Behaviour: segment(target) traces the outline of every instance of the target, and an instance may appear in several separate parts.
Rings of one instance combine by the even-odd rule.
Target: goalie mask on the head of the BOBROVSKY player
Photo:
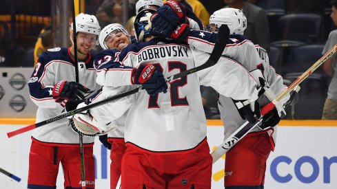
[[[151,35],[151,16],[154,12],[156,11],[153,9],[144,9],[136,15],[136,19],[134,19],[134,34],[137,41],[141,42]]]

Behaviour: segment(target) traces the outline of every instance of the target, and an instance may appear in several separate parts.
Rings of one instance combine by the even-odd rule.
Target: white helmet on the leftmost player
[[[94,15],[80,13],[76,16],[75,22],[76,33],[84,32],[89,34],[96,34],[98,36],[99,32],[101,32],[101,26],[99,26],[99,21]],[[71,27],[73,28],[73,26]]]

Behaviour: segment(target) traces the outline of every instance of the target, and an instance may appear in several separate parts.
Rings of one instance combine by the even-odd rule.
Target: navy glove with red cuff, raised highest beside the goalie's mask
[[[167,1],[157,10],[156,14],[152,15],[151,34],[170,38],[174,30],[176,30],[176,27],[181,23],[186,23],[186,21],[185,9],[181,3]]]

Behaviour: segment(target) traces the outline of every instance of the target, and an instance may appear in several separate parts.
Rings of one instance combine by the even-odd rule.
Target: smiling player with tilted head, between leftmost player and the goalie
[[[104,49],[99,54],[96,55],[94,60],[94,67],[97,69],[97,82],[99,85],[113,87],[110,82],[109,74],[110,69],[115,67],[110,60],[116,58],[116,52],[120,52],[121,49],[126,47],[131,43],[130,35],[127,33],[125,28],[119,23],[112,23],[107,25],[101,31],[99,35],[99,44]],[[124,124],[125,116],[116,120],[118,128],[114,131],[108,132],[108,142],[111,144],[110,148],[110,188],[115,189],[119,177],[121,177],[121,160],[125,151],[125,141],[124,141]],[[100,137],[101,142],[104,142],[102,137]]]

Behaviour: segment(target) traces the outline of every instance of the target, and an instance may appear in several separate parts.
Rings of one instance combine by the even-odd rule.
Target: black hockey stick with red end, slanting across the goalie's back
[[[198,67],[194,67],[192,69],[188,69],[186,71],[183,71],[181,73],[178,74],[174,74],[173,76],[167,77],[165,80],[166,82],[171,82],[172,80],[175,80],[177,78],[181,78],[183,76],[187,76],[190,74],[193,74],[196,71],[201,71],[202,69],[206,69],[207,67],[212,67],[213,65],[215,65],[219,58],[221,57],[221,54],[223,53],[223,50],[225,49],[225,45],[227,43],[227,40],[229,38],[229,28],[227,25],[221,25],[219,31],[218,31],[218,35],[216,38],[216,43],[214,45],[214,49],[210,55],[210,58],[208,58],[208,60],[203,64],[200,65]],[[139,91],[142,91],[144,88],[143,87],[138,87],[136,89],[132,89],[131,91],[127,91],[125,93],[121,93],[115,96],[111,96],[110,98],[106,98],[104,100],[101,100],[100,102],[96,102],[96,103],[92,103],[92,104],[88,104],[88,106],[86,107],[82,107],[79,109],[74,109],[72,111],[68,111],[67,113],[63,113],[61,115],[57,115],[53,118],[49,118],[48,120],[44,120],[42,122],[38,122],[35,124],[30,124],[28,126],[25,126],[21,129],[17,129],[15,131],[11,131],[9,133],[7,133],[8,137],[13,137],[15,135],[19,135],[21,133],[25,133],[27,131],[31,131],[32,129],[35,129],[37,127],[43,126],[45,124],[49,124],[51,122],[55,122],[57,120],[61,120],[63,118],[67,118],[69,116],[72,116],[76,113],[81,113],[82,111],[87,111],[88,109],[92,109],[94,107],[98,107],[100,105],[106,104],[108,102],[111,102],[113,100],[119,99],[119,98],[123,98],[125,96],[130,96],[134,93],[138,93]]]

